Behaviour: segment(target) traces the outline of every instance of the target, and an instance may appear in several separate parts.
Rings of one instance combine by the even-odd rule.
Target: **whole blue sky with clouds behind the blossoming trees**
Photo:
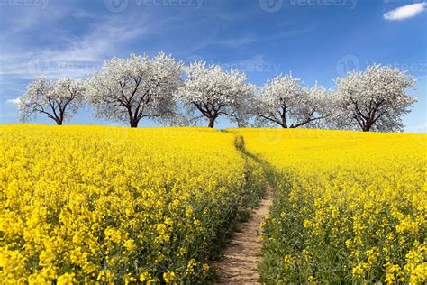
[[[17,122],[14,99],[37,76],[86,78],[112,57],[165,51],[241,69],[259,86],[289,71],[333,88],[371,63],[408,69],[419,102],[405,131],[426,132],[426,10],[401,0],[0,0],[0,124]],[[68,124],[114,123],[86,108]]]

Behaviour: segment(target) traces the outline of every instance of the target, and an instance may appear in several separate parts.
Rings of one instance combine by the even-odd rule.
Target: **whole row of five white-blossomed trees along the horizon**
[[[142,118],[188,125],[200,119],[213,127],[225,116],[239,126],[279,125],[401,131],[402,117],[416,102],[406,94],[415,78],[389,66],[372,65],[336,78],[336,90],[305,87],[291,74],[264,87],[236,69],[195,61],[185,66],[165,53],[153,58],[132,54],[107,61],[86,80],[38,78],[19,97],[20,119],[37,114],[57,124],[88,103],[95,116],[137,127]]]

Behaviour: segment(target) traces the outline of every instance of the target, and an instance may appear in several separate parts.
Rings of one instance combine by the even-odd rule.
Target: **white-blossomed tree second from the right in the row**
[[[331,115],[330,101],[331,92],[324,87],[304,87],[300,78],[280,75],[259,88],[252,113],[258,125],[297,128]]]

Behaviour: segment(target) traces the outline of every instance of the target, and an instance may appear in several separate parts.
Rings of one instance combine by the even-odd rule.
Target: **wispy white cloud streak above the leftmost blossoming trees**
[[[62,36],[58,39],[60,47],[32,51],[6,47],[5,50],[9,51],[0,55],[0,77],[85,78],[99,70],[104,59],[112,57],[121,44],[150,33],[153,28],[148,21],[129,24],[124,18],[118,18],[99,21],[87,30],[89,32],[80,37]]]

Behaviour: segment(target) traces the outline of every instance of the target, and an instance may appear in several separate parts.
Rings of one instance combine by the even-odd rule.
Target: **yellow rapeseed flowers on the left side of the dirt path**
[[[232,133],[0,126],[0,283],[204,280],[263,187]]]

